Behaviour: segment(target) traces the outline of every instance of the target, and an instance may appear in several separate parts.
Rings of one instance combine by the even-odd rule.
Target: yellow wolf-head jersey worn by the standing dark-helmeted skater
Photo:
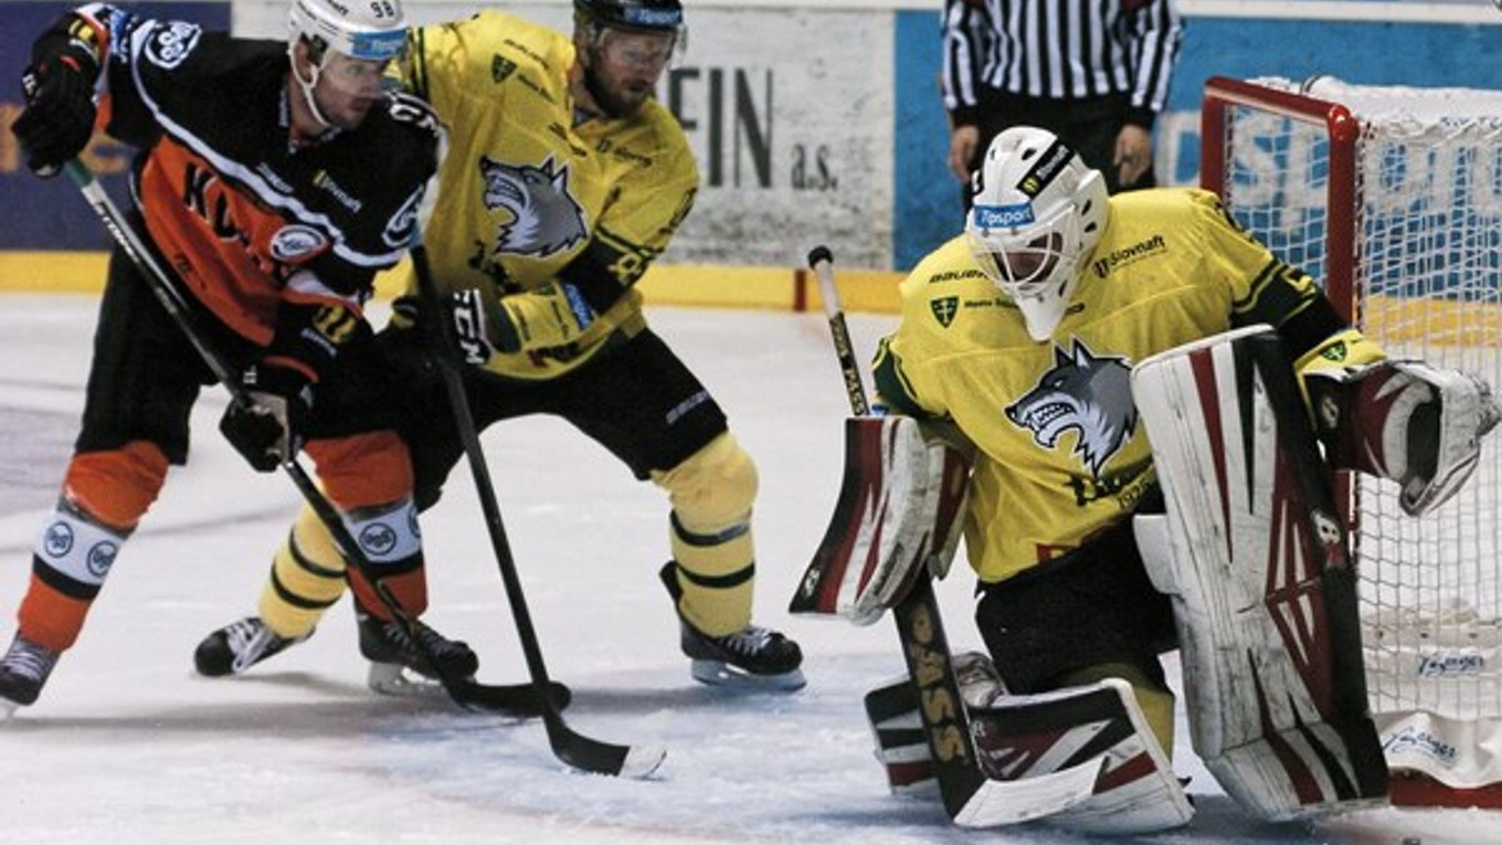
[[[496,286],[568,298],[553,284],[586,251],[628,289],[578,341],[496,355],[512,379],[551,379],[643,329],[631,289],[688,215],[698,165],[655,99],[629,119],[575,125],[574,44],[502,12],[413,30],[403,83],[448,131],[424,242],[442,292]],[[416,281],[407,281],[409,293]]]

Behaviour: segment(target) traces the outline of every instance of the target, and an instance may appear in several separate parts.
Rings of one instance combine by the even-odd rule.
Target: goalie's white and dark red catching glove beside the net
[[[1397,481],[1409,516],[1437,508],[1464,486],[1481,438],[1502,418],[1485,382],[1416,361],[1316,370],[1307,383],[1335,463]]]

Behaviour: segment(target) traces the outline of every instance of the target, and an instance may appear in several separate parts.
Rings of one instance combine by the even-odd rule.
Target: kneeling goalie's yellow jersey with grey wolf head
[[[982,582],[1062,555],[1157,484],[1131,368],[1238,325],[1281,325],[1322,296],[1247,236],[1214,194],[1111,197],[1105,232],[1051,340],[981,272],[964,236],[903,281],[876,361],[894,412],[952,421],[978,447],[966,547]]]

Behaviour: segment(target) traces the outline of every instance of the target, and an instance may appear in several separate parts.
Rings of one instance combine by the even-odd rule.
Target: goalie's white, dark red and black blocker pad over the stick
[[[970,460],[909,416],[846,421],[835,514],[789,606],[871,624],[925,570],[943,576],[960,543]]]

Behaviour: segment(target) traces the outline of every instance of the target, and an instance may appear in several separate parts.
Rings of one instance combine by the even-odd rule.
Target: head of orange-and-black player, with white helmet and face
[[[345,95],[368,92],[380,84],[385,66],[398,59],[407,45],[407,17],[400,0],[348,5],[338,0],[291,0],[287,26],[293,78],[297,80],[312,116],[324,126],[333,123],[314,99],[318,80],[327,80],[327,84]],[[297,68],[294,51],[299,44],[308,48],[308,59],[312,62],[312,74],[306,78]],[[327,72],[335,54],[354,62],[339,62],[336,71]]]

